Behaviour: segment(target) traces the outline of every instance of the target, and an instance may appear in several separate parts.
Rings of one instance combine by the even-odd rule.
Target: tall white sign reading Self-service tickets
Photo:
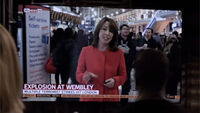
[[[50,83],[44,65],[49,58],[50,11],[26,8],[27,83]]]

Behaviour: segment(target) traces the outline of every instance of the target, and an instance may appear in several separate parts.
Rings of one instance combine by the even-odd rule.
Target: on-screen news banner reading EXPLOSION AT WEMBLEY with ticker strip
[[[24,84],[23,97],[137,98],[138,95],[99,94],[92,84]],[[180,99],[180,96],[175,96]]]

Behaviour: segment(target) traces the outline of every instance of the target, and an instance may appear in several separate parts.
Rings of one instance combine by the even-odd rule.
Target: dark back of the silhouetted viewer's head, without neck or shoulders
[[[136,85],[146,91],[161,91],[168,79],[168,69],[168,59],[162,52],[143,50],[136,57]]]

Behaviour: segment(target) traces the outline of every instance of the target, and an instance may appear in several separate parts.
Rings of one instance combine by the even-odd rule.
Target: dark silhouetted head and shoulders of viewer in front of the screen
[[[169,62],[161,51],[142,50],[136,57],[137,101],[121,113],[185,113],[184,109],[165,99]]]

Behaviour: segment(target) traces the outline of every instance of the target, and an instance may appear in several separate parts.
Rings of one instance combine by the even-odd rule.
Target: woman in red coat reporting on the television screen
[[[103,18],[94,31],[92,46],[84,47],[78,60],[76,79],[93,84],[99,94],[119,95],[118,86],[126,80],[123,52],[117,48],[118,28],[110,18]],[[81,98],[80,101],[119,101],[119,98]]]

